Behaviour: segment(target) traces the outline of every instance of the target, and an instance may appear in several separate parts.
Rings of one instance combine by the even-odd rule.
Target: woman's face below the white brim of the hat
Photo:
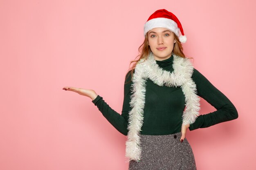
[[[165,28],[154,28],[148,31],[148,45],[155,60],[166,60],[171,57],[174,46],[174,33]]]

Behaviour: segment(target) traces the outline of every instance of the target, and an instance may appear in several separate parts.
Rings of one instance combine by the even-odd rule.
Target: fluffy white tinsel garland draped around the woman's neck
[[[141,158],[140,130],[143,125],[146,79],[149,78],[159,86],[181,86],[185,96],[186,108],[183,112],[183,124],[192,124],[199,115],[200,98],[196,95],[196,85],[191,78],[193,65],[187,58],[173,55],[173,72],[160,68],[151,52],[147,60],[141,59],[132,77],[132,94],[128,119],[128,135],[126,141],[126,157],[129,161]]]

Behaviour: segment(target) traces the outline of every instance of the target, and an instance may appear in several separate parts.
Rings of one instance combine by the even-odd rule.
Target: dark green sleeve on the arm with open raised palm
[[[130,71],[128,72],[130,73]],[[121,115],[113,110],[104,100],[103,97],[98,95],[92,103],[101,111],[102,115],[123,135],[128,134],[128,117],[130,108],[130,95],[131,95],[131,75],[126,74],[126,80],[124,84],[124,102]]]

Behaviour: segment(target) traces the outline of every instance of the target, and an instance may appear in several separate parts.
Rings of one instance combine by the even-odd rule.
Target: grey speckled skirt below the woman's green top
[[[141,135],[141,160],[129,161],[129,170],[196,170],[189,141],[181,132],[171,135]]]

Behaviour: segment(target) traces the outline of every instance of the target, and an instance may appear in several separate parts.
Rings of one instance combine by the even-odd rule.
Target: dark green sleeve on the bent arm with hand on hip
[[[189,130],[207,128],[238,118],[238,112],[234,104],[195,68],[192,79],[196,84],[197,94],[217,110],[206,115],[199,115],[195,122],[190,124]]]

